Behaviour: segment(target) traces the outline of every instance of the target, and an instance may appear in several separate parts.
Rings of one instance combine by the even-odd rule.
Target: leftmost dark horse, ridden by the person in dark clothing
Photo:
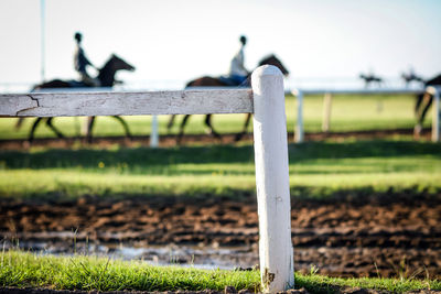
[[[133,72],[135,66],[130,65],[129,63],[125,62],[122,58],[118,57],[117,55],[112,54],[109,59],[105,63],[105,65],[98,70],[97,79],[100,81],[100,87],[112,87],[115,84],[121,83],[116,80],[115,76],[118,70],[129,70]],[[39,91],[42,89],[49,88],[78,88],[78,87],[92,87],[80,81],[76,80],[61,80],[61,79],[53,79],[33,87],[32,91]],[[116,120],[118,120],[122,128],[125,129],[126,137],[130,138],[129,127],[127,126],[126,121],[118,116],[114,116]],[[24,118],[20,118],[17,122],[15,128],[20,128]],[[60,132],[53,124],[52,120],[54,118],[37,118],[34,123],[32,124],[31,131],[28,137],[28,142],[31,143],[34,139],[35,129],[39,123],[45,119],[46,124],[51,130],[56,134],[57,138],[64,138],[63,133]],[[92,142],[92,129],[95,122],[95,117],[89,117],[87,121],[87,134],[86,139],[90,143]]]

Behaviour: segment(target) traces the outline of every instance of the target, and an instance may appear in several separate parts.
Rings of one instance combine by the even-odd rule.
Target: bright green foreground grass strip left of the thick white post
[[[18,251],[1,253],[0,285],[60,290],[222,291],[259,288],[258,272],[203,271],[182,266],[153,266],[142,261],[96,257],[35,255]]]

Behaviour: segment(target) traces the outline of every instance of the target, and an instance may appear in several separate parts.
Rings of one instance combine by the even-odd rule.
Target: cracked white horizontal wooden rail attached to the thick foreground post
[[[206,115],[252,112],[250,89],[0,95],[0,117]]]

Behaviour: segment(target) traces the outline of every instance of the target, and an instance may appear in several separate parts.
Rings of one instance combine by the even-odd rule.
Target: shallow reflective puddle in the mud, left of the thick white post
[[[257,249],[250,247],[94,244],[86,242],[3,242],[4,249],[20,248],[43,254],[87,254],[123,260],[142,260],[153,265],[179,265],[197,269],[251,269],[259,262]]]

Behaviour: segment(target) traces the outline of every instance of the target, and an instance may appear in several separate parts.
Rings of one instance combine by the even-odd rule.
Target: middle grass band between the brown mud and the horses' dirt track
[[[312,142],[289,146],[291,194],[441,190],[439,144]],[[252,145],[0,151],[0,197],[230,196],[255,193]]]

